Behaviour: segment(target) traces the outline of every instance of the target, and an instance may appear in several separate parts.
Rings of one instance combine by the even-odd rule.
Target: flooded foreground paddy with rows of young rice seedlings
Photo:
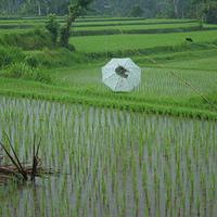
[[[0,119],[23,162],[36,133],[41,162],[61,171],[2,186],[1,216],[217,215],[214,120],[8,97]]]

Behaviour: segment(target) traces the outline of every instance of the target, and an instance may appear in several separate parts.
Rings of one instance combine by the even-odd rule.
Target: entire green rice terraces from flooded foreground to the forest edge
[[[217,216],[217,25],[84,17],[63,48],[46,21],[0,20],[0,216]]]

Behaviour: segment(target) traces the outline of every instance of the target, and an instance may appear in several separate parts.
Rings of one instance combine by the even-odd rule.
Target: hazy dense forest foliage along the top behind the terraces
[[[0,1],[0,14],[65,15],[67,7],[77,1],[71,0],[3,0]],[[79,0],[84,4],[90,1]],[[216,0],[93,0],[88,15],[127,16],[133,5],[140,4],[145,17],[200,17],[207,23],[216,23]]]

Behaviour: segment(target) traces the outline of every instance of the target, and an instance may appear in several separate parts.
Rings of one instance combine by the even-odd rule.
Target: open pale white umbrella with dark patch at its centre
[[[113,91],[130,92],[141,82],[141,68],[131,59],[112,59],[102,67],[102,82]]]

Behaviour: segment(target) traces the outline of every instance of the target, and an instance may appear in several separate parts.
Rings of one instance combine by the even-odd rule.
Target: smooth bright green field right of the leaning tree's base
[[[138,35],[105,35],[105,36],[84,36],[72,37],[69,42],[73,43],[77,51],[81,52],[106,52],[120,50],[111,42],[128,47],[130,49],[145,49],[162,46],[176,46],[191,37],[194,42],[213,41],[217,39],[217,30],[202,30],[191,33],[176,34],[138,34]]]

